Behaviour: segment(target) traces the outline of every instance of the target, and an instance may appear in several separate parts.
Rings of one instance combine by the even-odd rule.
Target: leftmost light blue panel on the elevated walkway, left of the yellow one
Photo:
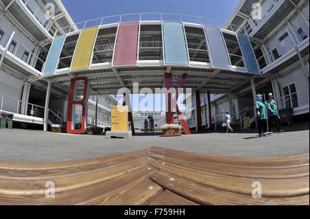
[[[61,54],[61,50],[63,49],[63,44],[65,43],[65,38],[66,36],[63,35],[54,39],[50,47],[50,51],[48,52],[48,57],[45,61],[43,76],[55,73],[59,56]]]

